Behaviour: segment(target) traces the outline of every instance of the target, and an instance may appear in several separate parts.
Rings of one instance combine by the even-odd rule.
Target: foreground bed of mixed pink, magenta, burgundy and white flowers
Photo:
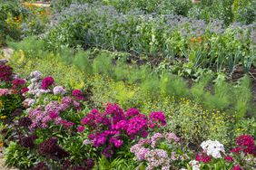
[[[170,119],[161,111],[147,116],[113,103],[90,111],[83,90],[65,89],[51,76],[43,78],[40,71],[25,80],[9,66],[1,68],[5,68],[0,71],[0,98],[6,103],[1,106],[6,165],[92,169],[117,159],[132,165],[120,163],[123,169],[252,169],[255,165],[256,146],[249,135],[238,137],[231,149],[207,140],[202,151],[196,151],[183,137],[166,131]],[[14,104],[10,95],[19,102]],[[10,103],[14,108],[6,107]]]

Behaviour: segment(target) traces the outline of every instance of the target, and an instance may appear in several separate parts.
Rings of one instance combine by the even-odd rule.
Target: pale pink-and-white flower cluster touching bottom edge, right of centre
[[[148,161],[146,170],[162,167],[162,170],[170,169],[170,158],[165,150],[153,149],[146,153],[145,160]]]

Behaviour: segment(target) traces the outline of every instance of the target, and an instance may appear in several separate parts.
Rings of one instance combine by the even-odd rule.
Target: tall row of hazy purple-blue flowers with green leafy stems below
[[[255,24],[231,24],[171,14],[118,13],[112,6],[70,5],[54,14],[46,33],[50,49],[97,47],[112,51],[182,60],[193,68],[232,75],[238,66],[250,71],[255,62]],[[255,63],[254,63],[255,64]]]

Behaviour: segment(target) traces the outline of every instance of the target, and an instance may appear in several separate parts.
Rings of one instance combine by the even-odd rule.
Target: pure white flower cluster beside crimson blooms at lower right
[[[202,142],[201,147],[208,156],[221,158],[222,153],[225,153],[224,146],[217,140],[206,140]]]

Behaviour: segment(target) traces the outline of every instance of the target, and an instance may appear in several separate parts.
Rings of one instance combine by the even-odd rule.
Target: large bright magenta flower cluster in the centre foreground
[[[93,109],[81,119],[81,125],[89,127],[91,134],[88,137],[94,142],[94,146],[107,146],[103,149],[103,155],[110,157],[114,148],[123,146],[125,137],[128,140],[147,137],[149,122],[156,120],[153,118],[155,117],[147,118],[137,109],[128,109],[124,113],[117,104],[108,104],[103,113]]]

